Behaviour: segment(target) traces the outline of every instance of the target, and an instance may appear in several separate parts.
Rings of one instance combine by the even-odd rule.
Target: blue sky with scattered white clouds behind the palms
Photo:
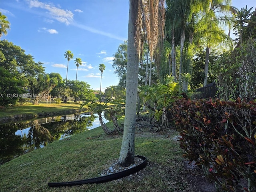
[[[255,0],[233,0],[239,10],[255,8]],[[7,16],[10,30],[2,39],[13,42],[31,54],[35,62],[44,63],[45,72],[58,72],[66,78],[66,50],[72,51],[68,79],[76,79],[75,58],[82,59],[78,80],[102,91],[118,84],[112,68],[113,54],[127,39],[128,0],[1,0],[0,11]]]

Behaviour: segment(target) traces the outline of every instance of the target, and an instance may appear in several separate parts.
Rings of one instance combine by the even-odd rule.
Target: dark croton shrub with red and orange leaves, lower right
[[[182,99],[172,112],[189,163],[201,166],[222,190],[256,191],[256,100]]]

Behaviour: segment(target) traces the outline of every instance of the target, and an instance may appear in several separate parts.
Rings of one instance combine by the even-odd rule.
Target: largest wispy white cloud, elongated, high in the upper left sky
[[[38,0],[29,1],[29,6],[30,8],[36,7],[47,10],[48,12],[46,14],[50,14],[52,18],[58,20],[59,22],[65,23],[66,25],[73,22],[74,14],[69,10],[60,9],[53,5],[42,3]]]

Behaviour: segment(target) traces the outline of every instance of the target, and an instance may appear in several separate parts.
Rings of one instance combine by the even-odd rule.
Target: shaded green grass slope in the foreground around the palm
[[[70,105],[71,106],[71,105]],[[107,123],[108,127],[112,122]],[[183,192],[189,189],[182,172],[182,151],[167,135],[136,130],[135,153],[146,156],[148,165],[133,179],[122,178],[102,184],[49,188],[48,182],[66,182],[98,177],[117,161],[122,135],[107,136],[101,127],[54,141],[0,166],[1,192]],[[183,175],[183,176],[182,176]]]

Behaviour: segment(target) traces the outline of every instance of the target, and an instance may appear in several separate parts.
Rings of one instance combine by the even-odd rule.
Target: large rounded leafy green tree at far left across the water
[[[44,72],[41,62],[34,62],[25,50],[7,40],[0,41],[0,91],[1,94],[15,94],[1,97],[0,105],[16,104],[20,94],[27,92],[29,82]]]

